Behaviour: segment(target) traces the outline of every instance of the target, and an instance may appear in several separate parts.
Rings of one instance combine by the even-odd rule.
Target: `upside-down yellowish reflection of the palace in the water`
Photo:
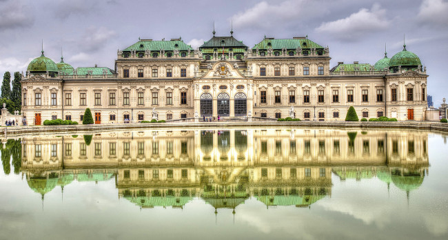
[[[119,197],[141,208],[182,207],[200,197],[235,208],[309,206],[331,196],[332,172],[378,179],[407,192],[427,174],[427,134],[389,130],[211,130],[25,137],[22,171],[45,194],[77,181],[115,178]]]

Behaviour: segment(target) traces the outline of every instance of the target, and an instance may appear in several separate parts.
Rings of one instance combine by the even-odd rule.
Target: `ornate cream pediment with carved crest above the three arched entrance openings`
[[[241,79],[246,78],[238,70],[238,63],[230,63],[229,61],[217,61],[214,64],[209,63],[208,70],[203,74],[201,79],[223,79],[234,78]]]

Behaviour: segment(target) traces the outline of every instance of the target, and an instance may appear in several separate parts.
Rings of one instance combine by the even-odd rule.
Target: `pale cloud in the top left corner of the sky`
[[[0,5],[0,30],[26,28],[34,23],[32,9],[21,1],[3,1]]]

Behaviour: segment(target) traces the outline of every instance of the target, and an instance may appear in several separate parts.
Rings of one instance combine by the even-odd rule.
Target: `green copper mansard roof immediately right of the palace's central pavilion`
[[[269,45],[270,44],[270,45]],[[274,50],[276,49],[294,49],[301,47],[302,49],[309,49],[309,48],[323,48],[323,46],[320,46],[319,44],[315,43],[314,41],[311,41],[309,39],[272,39],[272,38],[265,38],[260,43],[256,44],[254,48],[256,49],[267,49],[272,48]]]

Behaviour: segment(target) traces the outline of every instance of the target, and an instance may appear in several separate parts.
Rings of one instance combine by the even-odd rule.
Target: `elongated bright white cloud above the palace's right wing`
[[[356,41],[374,32],[385,30],[389,20],[385,17],[386,10],[374,4],[371,9],[361,8],[345,19],[322,23],[316,32],[331,34],[343,41]]]

